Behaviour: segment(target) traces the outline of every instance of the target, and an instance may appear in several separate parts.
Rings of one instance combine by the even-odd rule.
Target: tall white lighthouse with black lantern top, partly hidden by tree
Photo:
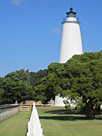
[[[82,54],[82,42],[80,33],[80,22],[76,20],[76,12],[70,8],[67,12],[66,21],[62,22],[62,39],[59,63],[65,63],[75,54]],[[55,97],[55,106],[65,106],[63,100],[66,98],[60,97],[60,94]]]

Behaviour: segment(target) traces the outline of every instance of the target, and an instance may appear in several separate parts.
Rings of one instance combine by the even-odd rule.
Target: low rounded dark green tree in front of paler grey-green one
[[[3,104],[14,103],[16,100],[21,102],[29,97],[34,98],[32,88],[21,82],[6,83],[1,97]]]

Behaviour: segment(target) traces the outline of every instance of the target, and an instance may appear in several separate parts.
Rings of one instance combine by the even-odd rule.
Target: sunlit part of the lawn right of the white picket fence
[[[102,136],[102,116],[85,120],[84,115],[65,114],[59,107],[37,107],[37,110],[45,136]]]

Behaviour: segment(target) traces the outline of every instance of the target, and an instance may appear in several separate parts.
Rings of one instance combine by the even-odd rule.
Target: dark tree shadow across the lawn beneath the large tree
[[[82,114],[80,112],[80,110],[71,110],[71,111],[66,111],[64,109],[61,110],[51,110],[51,111],[47,111],[45,112],[47,113],[47,116],[40,116],[40,119],[51,119],[51,120],[60,120],[60,121],[76,121],[76,120],[88,120],[85,117],[85,114]],[[51,116],[49,115],[51,114]],[[56,116],[54,116],[55,114],[57,114]],[[96,116],[97,120],[102,120],[102,114]],[[89,119],[92,120],[92,119]]]

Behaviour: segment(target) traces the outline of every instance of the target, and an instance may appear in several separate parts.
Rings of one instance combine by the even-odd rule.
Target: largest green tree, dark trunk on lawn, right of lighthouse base
[[[75,55],[62,68],[57,74],[61,77],[63,96],[85,106],[87,119],[95,118],[97,107],[102,104],[102,54]]]

